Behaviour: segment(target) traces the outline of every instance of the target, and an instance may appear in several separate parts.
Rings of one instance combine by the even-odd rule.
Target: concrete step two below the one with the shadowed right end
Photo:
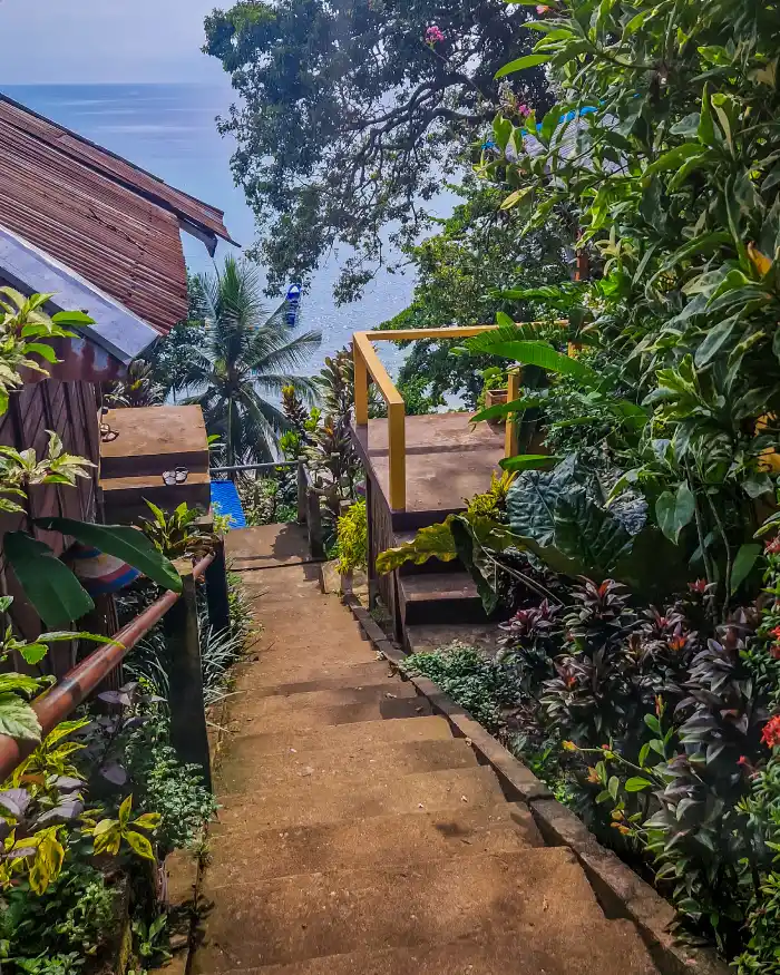
[[[309,786],[319,789],[329,782],[352,781],[355,787],[368,779],[376,782],[413,772],[468,769],[477,758],[464,739],[411,741],[400,744],[355,742],[349,749],[319,748],[266,755],[257,761],[251,738],[233,742],[220,776],[217,792],[237,794],[263,789]]]

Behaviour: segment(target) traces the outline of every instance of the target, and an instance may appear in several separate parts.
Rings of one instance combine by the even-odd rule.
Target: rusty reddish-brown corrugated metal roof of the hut
[[[0,95],[0,224],[166,334],[187,312],[179,225],[222,212]]]

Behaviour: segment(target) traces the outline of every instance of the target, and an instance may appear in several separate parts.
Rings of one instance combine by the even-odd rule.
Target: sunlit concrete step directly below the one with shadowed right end
[[[443,718],[397,718],[393,721],[353,721],[348,724],[331,724],[316,728],[311,732],[271,731],[263,734],[247,735],[251,748],[260,755],[277,754],[296,751],[310,751],[316,748],[350,748],[355,742],[364,747],[402,741],[449,740],[452,731]],[[230,742],[227,748],[233,748]]]

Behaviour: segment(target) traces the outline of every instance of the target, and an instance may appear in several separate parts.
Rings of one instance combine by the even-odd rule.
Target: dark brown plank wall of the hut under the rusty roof
[[[98,391],[89,382],[60,382],[46,379],[29,383],[11,394],[8,412],[0,417],[0,443],[19,450],[35,448],[38,458],[46,455],[47,430],[55,430],[69,454],[86,457],[97,465],[100,455],[98,431]],[[65,516],[82,520],[97,520],[97,467],[89,478],[79,478],[77,487],[46,485],[33,487],[27,505],[28,515]],[[0,533],[29,528],[28,516],[0,514]],[[55,533],[36,530],[36,536],[46,542],[57,555],[61,555],[70,539]],[[40,632],[37,614],[23,602],[12,572],[7,569],[0,553],[0,587],[14,596],[13,622],[28,640]],[[64,653],[70,653],[64,645]],[[55,672],[61,667],[55,662]]]

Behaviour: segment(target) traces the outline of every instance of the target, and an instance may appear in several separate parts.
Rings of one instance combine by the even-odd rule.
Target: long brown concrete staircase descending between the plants
[[[544,846],[320,592],[303,548],[264,565],[243,573],[263,632],[222,747],[192,975],[655,973],[571,851]]]

